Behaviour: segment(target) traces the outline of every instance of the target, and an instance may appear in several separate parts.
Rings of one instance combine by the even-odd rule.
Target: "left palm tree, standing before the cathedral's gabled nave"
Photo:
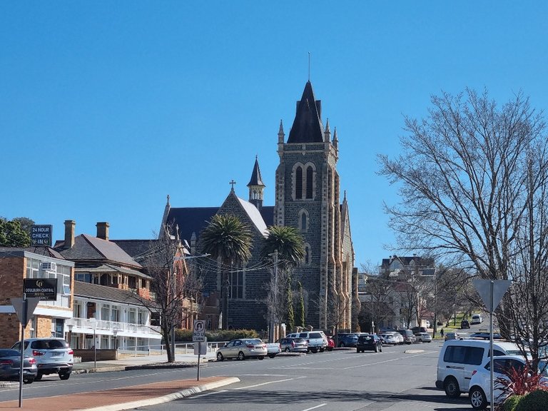
[[[235,215],[215,214],[200,238],[202,252],[220,258],[223,284],[223,330],[228,328],[228,273],[229,265],[244,265],[251,257],[253,235],[247,225]]]

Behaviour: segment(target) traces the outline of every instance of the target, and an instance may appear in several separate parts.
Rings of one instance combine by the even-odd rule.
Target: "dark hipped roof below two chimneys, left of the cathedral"
[[[92,237],[88,234],[81,234],[74,238],[74,245],[66,250],[59,250],[67,260],[77,262],[86,261],[111,261],[123,265],[130,265],[134,268],[142,268],[141,264],[133,260],[128,253],[122,250],[116,243]]]

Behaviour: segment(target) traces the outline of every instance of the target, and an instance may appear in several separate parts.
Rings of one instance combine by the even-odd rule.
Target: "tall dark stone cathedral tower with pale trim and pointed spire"
[[[306,325],[350,328],[354,253],[346,196],[340,203],[338,138],[323,125],[321,102],[306,83],[288,140],[278,131],[274,224],[297,227],[305,262],[295,279],[305,289]]]

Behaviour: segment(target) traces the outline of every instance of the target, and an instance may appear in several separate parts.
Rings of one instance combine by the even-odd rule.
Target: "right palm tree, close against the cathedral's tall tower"
[[[271,261],[276,266],[274,268],[274,281],[270,283],[270,295],[268,305],[270,305],[270,340],[274,339],[273,328],[275,320],[274,311],[278,311],[277,316],[284,315],[287,318],[290,330],[295,325],[295,316],[293,314],[293,293],[291,290],[291,270],[295,268],[305,258],[305,247],[303,236],[300,235],[295,227],[272,225],[268,228],[268,236],[263,243],[261,250],[263,260]],[[281,270],[285,285],[285,295],[287,301],[285,304],[278,303],[278,268]],[[280,313],[283,307],[287,307],[287,312]]]

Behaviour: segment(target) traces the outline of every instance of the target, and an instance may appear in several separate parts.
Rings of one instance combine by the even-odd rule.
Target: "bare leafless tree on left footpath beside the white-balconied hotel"
[[[153,300],[136,295],[136,298],[151,312],[159,316],[160,333],[166,344],[168,362],[174,362],[174,330],[193,315],[188,310],[194,304],[201,303],[201,280],[195,270],[188,270],[184,260],[184,248],[178,240],[175,229],[166,226],[158,240],[151,240],[148,253],[143,256],[141,264],[152,277],[151,291]]]

